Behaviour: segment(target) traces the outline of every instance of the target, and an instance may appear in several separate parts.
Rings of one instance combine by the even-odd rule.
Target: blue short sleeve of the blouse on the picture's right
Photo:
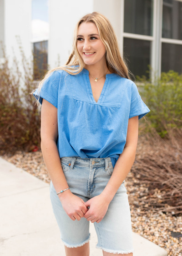
[[[129,118],[138,116],[138,120],[144,117],[150,109],[142,101],[142,98],[138,92],[138,88],[135,83],[131,85],[131,106]]]

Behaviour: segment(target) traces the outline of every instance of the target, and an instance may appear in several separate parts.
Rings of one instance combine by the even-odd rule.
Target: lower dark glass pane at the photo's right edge
[[[174,70],[182,74],[182,45],[162,43],[161,72]]]

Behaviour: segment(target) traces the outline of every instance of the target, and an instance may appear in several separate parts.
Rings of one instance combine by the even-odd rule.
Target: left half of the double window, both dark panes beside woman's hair
[[[123,52],[133,75],[149,78],[152,63],[153,0],[124,1]]]

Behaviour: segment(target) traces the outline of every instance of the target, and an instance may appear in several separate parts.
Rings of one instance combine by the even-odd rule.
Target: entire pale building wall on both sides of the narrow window
[[[1,7],[3,4],[4,26],[1,23],[0,28],[3,32],[2,27],[4,27],[4,33],[1,34],[4,36],[6,53],[10,58],[10,66],[12,66],[14,49],[20,71],[23,73],[22,57],[16,36],[20,37],[25,56],[30,61],[30,58],[33,57],[31,52],[33,49],[31,38],[31,0],[0,0]],[[3,8],[1,8],[2,10]],[[73,33],[77,21],[82,16],[93,11],[101,12],[111,21],[120,42],[120,0],[49,0],[50,35],[48,39],[48,64],[50,69],[66,63],[71,54]],[[59,62],[58,59],[60,59]]]

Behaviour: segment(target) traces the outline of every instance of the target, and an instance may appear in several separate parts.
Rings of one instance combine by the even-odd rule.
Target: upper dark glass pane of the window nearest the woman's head
[[[152,36],[153,0],[125,0],[124,32]]]

